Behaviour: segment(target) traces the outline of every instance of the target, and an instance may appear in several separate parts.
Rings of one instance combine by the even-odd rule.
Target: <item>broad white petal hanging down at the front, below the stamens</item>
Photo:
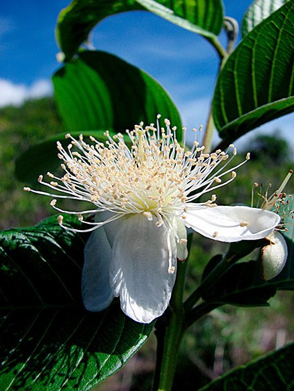
[[[176,242],[165,224],[143,214],[122,220],[113,242],[110,278],[122,311],[150,323],[165,311],[176,279]],[[174,267],[174,273],[169,268]]]

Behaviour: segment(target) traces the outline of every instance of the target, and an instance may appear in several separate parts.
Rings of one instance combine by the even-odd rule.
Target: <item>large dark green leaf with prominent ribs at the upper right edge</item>
[[[289,0],[241,41],[219,75],[214,124],[227,142],[291,113],[294,1]]]

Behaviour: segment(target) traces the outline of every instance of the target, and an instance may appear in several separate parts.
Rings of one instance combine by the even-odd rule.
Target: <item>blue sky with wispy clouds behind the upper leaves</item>
[[[225,0],[226,15],[241,19],[251,1]],[[55,23],[66,0],[1,1],[0,106],[21,104],[52,92],[50,77],[59,68]],[[136,17],[134,17],[136,16]],[[223,44],[225,36],[221,36]],[[187,128],[205,124],[217,77],[218,57],[208,41],[149,12],[104,19],[93,46],[116,54],[152,75],[172,96]],[[264,126],[292,127],[293,115]],[[291,132],[292,133],[292,132]],[[293,133],[292,133],[293,134]]]

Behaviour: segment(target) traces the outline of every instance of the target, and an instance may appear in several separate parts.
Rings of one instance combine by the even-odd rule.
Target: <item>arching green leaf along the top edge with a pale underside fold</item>
[[[56,28],[57,41],[66,59],[77,53],[102,19],[131,10],[149,10],[205,37],[218,35],[223,25],[221,0],[73,0],[60,12]]]

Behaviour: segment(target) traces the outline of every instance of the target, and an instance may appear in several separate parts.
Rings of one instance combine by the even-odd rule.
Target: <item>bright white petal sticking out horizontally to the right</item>
[[[264,209],[243,206],[197,208],[194,205],[187,204],[185,225],[221,242],[265,238],[280,220],[276,213]]]

